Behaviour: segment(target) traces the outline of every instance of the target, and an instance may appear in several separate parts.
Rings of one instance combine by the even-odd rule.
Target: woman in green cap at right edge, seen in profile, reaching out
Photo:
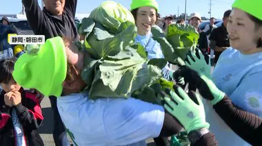
[[[225,124],[225,117],[221,119],[215,112],[216,108],[213,109],[224,95],[228,95],[235,106],[262,117],[261,5],[261,0],[234,1],[227,26],[231,47],[221,54],[212,75],[210,65],[201,53],[190,53],[188,56],[187,66],[199,73],[201,80],[206,82],[205,88],[201,88],[202,93],[205,93],[202,96],[212,99],[210,103],[204,104],[205,115],[219,145],[249,145],[235,134],[235,129],[228,127],[233,120]],[[186,73],[181,75],[185,77]],[[199,81],[196,77],[185,77],[185,80]]]

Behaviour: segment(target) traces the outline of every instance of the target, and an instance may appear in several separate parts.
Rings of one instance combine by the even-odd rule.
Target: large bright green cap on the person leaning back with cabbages
[[[46,40],[37,54],[25,53],[15,62],[12,75],[23,88],[35,88],[43,95],[61,96],[66,80],[67,57],[63,39]]]

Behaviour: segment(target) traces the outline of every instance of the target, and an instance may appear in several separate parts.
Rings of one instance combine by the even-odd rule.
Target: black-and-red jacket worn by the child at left
[[[41,146],[43,141],[37,131],[37,128],[43,121],[41,107],[36,95],[28,93],[23,88],[19,90],[21,93],[21,104],[16,107],[8,107],[4,102],[4,94],[0,95],[0,145],[15,145],[14,126],[12,121],[12,111],[16,110],[19,122],[23,127],[23,133],[28,146]]]

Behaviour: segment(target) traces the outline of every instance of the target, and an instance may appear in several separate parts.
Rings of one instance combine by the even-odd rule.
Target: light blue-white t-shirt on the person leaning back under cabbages
[[[145,139],[159,136],[164,109],[138,99],[88,99],[77,93],[57,99],[63,123],[74,145],[146,146]]]

